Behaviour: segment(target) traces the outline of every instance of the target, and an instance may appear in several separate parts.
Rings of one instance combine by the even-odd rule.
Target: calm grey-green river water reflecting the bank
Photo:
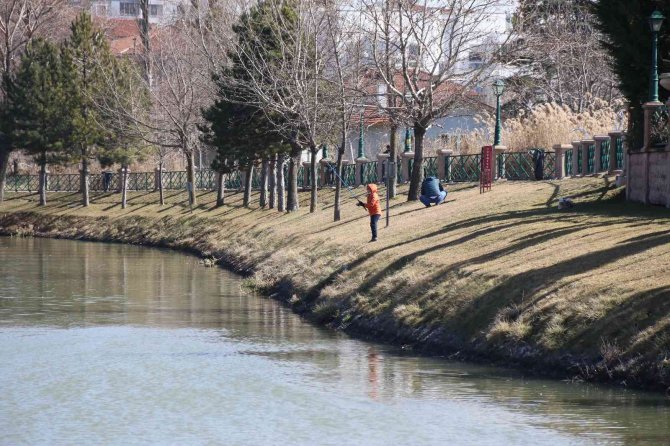
[[[163,250],[0,238],[0,443],[670,444],[670,400],[361,342]]]

